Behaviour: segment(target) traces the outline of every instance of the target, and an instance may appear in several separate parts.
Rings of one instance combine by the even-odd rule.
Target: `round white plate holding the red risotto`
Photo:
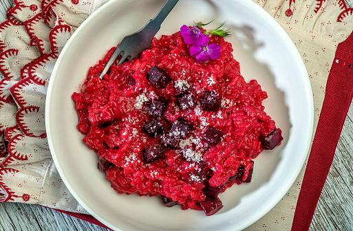
[[[255,159],[253,181],[226,190],[224,208],[204,212],[162,206],[158,197],[118,195],[97,167],[97,155],[82,142],[71,98],[87,70],[126,34],[142,28],[161,0],[111,0],[92,14],[69,39],[56,62],[46,102],[50,150],[74,197],[99,221],[115,230],[242,230],[270,211],[294,183],[308,155],[313,128],[312,91],[306,68],[289,36],[250,0],[180,0],[157,36],[193,22],[226,22],[234,56],[246,80],[257,79],[268,99],[266,112],[283,131],[274,151]]]

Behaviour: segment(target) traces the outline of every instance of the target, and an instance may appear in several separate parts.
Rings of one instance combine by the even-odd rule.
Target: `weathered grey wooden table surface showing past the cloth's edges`
[[[0,0],[0,23],[13,0]],[[353,106],[351,104],[310,230],[353,230]],[[50,208],[0,203],[0,231],[107,230]]]

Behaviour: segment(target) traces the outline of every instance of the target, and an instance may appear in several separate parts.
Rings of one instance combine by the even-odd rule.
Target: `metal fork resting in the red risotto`
[[[160,30],[160,24],[162,24],[169,12],[173,10],[178,1],[179,0],[167,0],[158,14],[156,14],[153,19],[149,20],[142,29],[138,30],[138,32],[125,36],[120,45],[116,47],[115,52],[105,65],[103,72],[99,77],[103,79],[104,75],[108,72],[110,66],[114,63],[116,58],[118,58],[119,54],[121,54],[121,58],[117,65],[124,63],[126,60],[135,58],[144,50],[150,49],[153,37],[157,34],[158,30]]]

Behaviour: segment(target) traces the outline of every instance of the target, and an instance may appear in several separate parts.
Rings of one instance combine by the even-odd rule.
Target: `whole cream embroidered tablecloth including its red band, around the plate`
[[[100,224],[72,197],[58,175],[47,145],[44,106],[58,54],[76,28],[105,1],[14,3],[8,20],[0,24],[4,76],[0,80],[0,202],[37,203]],[[316,133],[308,163],[296,183],[248,230],[307,230],[352,100],[353,8],[343,0],[255,3],[286,30],[306,64]]]

